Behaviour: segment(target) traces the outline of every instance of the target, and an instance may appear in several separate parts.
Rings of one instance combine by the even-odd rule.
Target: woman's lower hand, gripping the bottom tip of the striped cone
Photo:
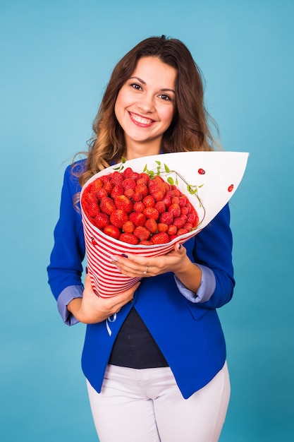
[[[75,298],[68,304],[68,311],[75,316],[78,321],[85,324],[94,324],[104,321],[114,313],[118,313],[125,304],[133,301],[134,293],[140,282],[136,282],[133,287],[116,294],[113,297],[100,298],[94,293],[90,280],[90,275],[85,277],[85,289],[82,298]]]

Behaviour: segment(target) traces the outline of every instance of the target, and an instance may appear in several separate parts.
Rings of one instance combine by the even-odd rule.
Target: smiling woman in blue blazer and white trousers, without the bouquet
[[[187,47],[148,38],[114,68],[87,160],[66,169],[49,284],[63,320],[87,323],[82,369],[101,442],[219,440],[230,395],[216,313],[234,287],[228,205],[166,256],[114,256],[121,273],[143,278],[107,299],[94,294],[88,275],[82,285],[76,210],[80,186],[122,156],[213,150],[208,118]]]

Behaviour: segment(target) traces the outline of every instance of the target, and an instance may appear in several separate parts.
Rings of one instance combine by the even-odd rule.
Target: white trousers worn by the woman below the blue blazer
[[[102,392],[87,388],[100,442],[217,442],[231,392],[226,364],[188,399],[169,367],[109,365]]]

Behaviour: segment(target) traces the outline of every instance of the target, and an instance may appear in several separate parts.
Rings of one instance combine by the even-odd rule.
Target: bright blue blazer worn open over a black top
[[[77,166],[82,167],[83,162]],[[63,289],[80,286],[85,242],[81,215],[73,207],[78,179],[66,169],[54,248],[48,266],[49,285],[58,299]],[[157,342],[184,398],[205,386],[226,361],[226,344],[216,309],[231,300],[233,287],[232,235],[228,205],[184,246],[192,262],[209,267],[216,278],[212,297],[202,303],[180,294],[173,273],[143,278],[132,304],[102,323],[87,325],[82,371],[101,391],[104,371],[123,321],[134,306]]]

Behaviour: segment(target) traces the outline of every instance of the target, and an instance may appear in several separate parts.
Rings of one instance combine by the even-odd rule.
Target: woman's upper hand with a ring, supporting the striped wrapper
[[[173,250],[161,256],[138,256],[128,253],[128,255],[114,255],[113,262],[116,267],[129,277],[150,277],[161,275],[162,273],[183,270],[185,264],[190,263],[186,254],[186,249],[180,243],[176,243]]]

